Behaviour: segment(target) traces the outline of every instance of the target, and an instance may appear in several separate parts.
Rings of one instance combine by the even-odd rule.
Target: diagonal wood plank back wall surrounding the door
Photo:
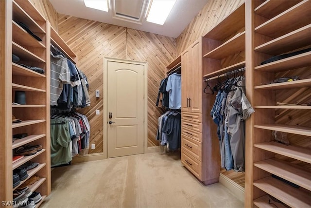
[[[103,152],[103,97],[96,98],[95,90],[103,95],[104,57],[148,62],[148,146],[155,140],[157,118],[163,113],[155,106],[158,87],[165,77],[165,67],[176,57],[175,38],[142,32],[97,21],[58,15],[58,33],[78,56],[77,67],[85,72],[89,82],[91,106],[81,110],[91,125],[90,144]],[[99,109],[101,114],[96,115]]]

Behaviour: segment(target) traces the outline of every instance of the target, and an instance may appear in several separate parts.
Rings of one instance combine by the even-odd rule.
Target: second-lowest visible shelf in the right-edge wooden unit
[[[310,207],[310,194],[272,177],[254,181],[254,186],[293,208]]]

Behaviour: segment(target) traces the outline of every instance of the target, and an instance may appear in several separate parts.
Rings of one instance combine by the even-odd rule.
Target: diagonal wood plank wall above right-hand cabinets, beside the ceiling
[[[196,39],[205,35],[245,0],[208,0],[185,30],[177,37],[177,55],[180,55]]]

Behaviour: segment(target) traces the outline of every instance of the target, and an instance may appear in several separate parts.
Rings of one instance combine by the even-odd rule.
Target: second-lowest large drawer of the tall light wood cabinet
[[[181,151],[202,162],[202,143],[181,134]]]

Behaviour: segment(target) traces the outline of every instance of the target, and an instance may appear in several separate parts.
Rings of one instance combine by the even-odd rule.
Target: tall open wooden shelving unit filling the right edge
[[[268,58],[310,48],[311,1],[246,1],[246,68],[255,113],[247,128],[245,207],[311,207],[311,52],[269,63]],[[299,80],[273,83],[280,77]],[[285,145],[272,131],[283,133]],[[283,178],[296,186],[291,186]],[[281,203],[273,201],[273,196]],[[270,202],[269,202],[270,200]],[[283,205],[284,204],[284,205]]]

